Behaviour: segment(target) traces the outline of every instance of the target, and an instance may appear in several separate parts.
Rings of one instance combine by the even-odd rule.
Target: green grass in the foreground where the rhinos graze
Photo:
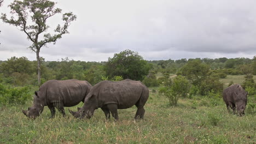
[[[216,103],[216,102],[214,102]],[[255,103],[255,101],[253,101]],[[119,121],[106,122],[101,109],[89,120],[66,118],[56,112],[49,119],[48,107],[30,120],[21,112],[32,105],[0,106],[0,143],[255,143],[255,115],[228,113],[222,99],[181,99],[177,106],[150,91],[145,116],[134,121],[136,107],[118,110]],[[82,103],[78,105],[82,106]],[[76,110],[76,107],[71,110]]]

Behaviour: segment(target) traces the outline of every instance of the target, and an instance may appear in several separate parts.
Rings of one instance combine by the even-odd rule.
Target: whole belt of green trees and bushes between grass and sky
[[[256,94],[253,75],[256,73],[256,56],[248,58],[195,58],[146,61],[131,50],[115,53],[107,62],[74,61],[68,57],[61,61],[40,58],[41,85],[48,80],[86,80],[92,85],[102,81],[123,79],[140,80],[147,87],[159,87],[171,105],[178,99],[204,95],[219,98],[227,75],[245,75],[242,83],[249,94]],[[172,74],[172,76],[171,76]],[[176,76],[177,75],[177,76]],[[0,62],[0,103],[25,103],[38,89],[37,61],[26,57],[11,57]],[[230,85],[232,82],[230,82]],[[210,96],[209,96],[210,95]],[[214,100],[214,98],[213,98]]]

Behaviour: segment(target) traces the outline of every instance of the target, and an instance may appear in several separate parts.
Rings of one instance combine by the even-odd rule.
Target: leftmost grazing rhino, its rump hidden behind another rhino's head
[[[48,106],[51,117],[55,116],[55,107],[65,116],[64,106],[75,106],[84,102],[90,92],[91,84],[88,81],[79,80],[49,80],[40,86],[39,91],[34,92],[34,103],[28,110],[22,110],[24,115],[36,118],[43,112],[44,106]]]

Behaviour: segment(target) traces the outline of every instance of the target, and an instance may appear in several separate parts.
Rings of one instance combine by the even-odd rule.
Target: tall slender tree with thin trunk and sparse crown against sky
[[[46,23],[48,19],[56,14],[61,13],[60,8],[55,8],[55,2],[48,0],[15,0],[9,5],[12,15],[10,19],[6,14],[2,14],[1,19],[5,23],[14,25],[25,32],[27,39],[32,41],[32,45],[29,47],[37,55],[37,69],[38,69],[38,85],[40,85],[40,49],[46,44],[56,43],[57,39],[61,39],[63,34],[68,33],[67,28],[71,25],[71,22],[77,19],[72,12],[62,15],[64,21],[63,26],[57,25],[54,33],[48,33],[49,25]]]

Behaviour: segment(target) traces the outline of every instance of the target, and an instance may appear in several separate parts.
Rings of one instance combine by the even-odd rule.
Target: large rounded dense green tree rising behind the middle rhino
[[[113,58],[108,58],[105,65],[106,74],[110,79],[122,76],[124,79],[140,81],[148,75],[150,68],[150,64],[142,56],[131,50],[115,53]]]

